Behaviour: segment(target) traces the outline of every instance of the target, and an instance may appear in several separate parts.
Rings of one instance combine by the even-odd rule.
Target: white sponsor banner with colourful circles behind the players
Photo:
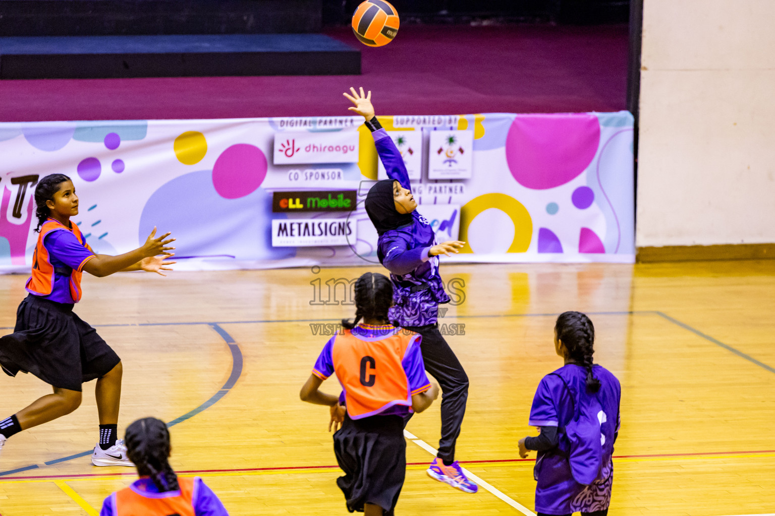
[[[0,272],[29,272],[37,238],[32,193],[51,173],[73,179],[80,214],[72,220],[98,253],[136,248],[158,226],[177,237],[181,270],[377,263],[377,233],[363,209],[377,153],[362,120],[2,123]],[[444,260],[634,260],[628,112],[380,121],[389,132],[421,135],[405,138],[406,159],[419,166],[412,182],[418,213],[439,241],[467,241]],[[429,162],[450,166],[445,159],[470,178],[429,179]],[[308,190],[334,197],[356,190],[355,209],[273,211],[274,192]],[[272,221],[294,218],[346,219],[352,237],[345,245],[273,247]]]

